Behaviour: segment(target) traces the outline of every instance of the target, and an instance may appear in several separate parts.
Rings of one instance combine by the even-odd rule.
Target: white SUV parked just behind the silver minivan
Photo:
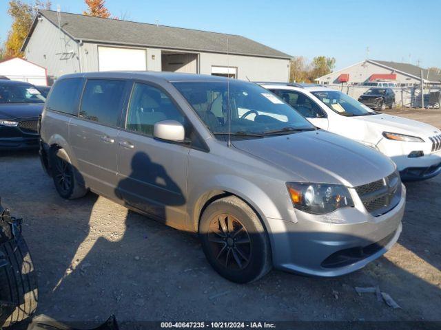
[[[369,109],[325,86],[266,83],[309,122],[391,157],[403,180],[429,179],[441,172],[441,131],[434,126]]]

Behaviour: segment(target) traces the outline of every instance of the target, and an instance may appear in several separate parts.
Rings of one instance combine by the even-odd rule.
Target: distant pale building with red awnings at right
[[[316,79],[320,84],[363,85],[376,80],[387,80],[396,83],[398,87],[420,85],[421,71],[423,83],[429,85],[441,84],[441,73],[422,69],[409,63],[366,60],[353,64],[336,72],[331,72]]]

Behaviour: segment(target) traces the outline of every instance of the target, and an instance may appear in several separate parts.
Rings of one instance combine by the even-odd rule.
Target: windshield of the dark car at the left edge
[[[44,103],[45,97],[32,85],[0,84],[1,103]]]

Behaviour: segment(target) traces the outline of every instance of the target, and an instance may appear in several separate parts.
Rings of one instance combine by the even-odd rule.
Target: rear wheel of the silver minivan
[[[63,149],[57,149],[51,153],[50,164],[55,189],[57,189],[61,197],[64,199],[76,199],[88,193],[88,188],[85,188],[83,182],[79,180],[81,174],[72,166]]]

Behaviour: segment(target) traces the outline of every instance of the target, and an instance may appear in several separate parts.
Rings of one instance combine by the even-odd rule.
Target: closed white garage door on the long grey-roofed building
[[[145,50],[98,47],[99,71],[146,70]]]

